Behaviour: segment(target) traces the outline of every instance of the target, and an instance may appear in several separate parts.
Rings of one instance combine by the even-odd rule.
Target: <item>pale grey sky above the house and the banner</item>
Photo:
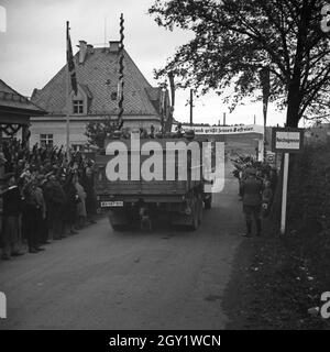
[[[0,78],[30,97],[66,63],[66,21],[70,22],[74,53],[79,40],[95,46],[119,40],[119,19],[124,14],[125,50],[146,79],[157,86],[154,69],[165,65],[193,33],[158,28],[147,9],[154,0],[0,0]],[[4,14],[6,13],[6,18]],[[7,21],[4,21],[7,20]],[[176,91],[175,118],[189,121],[188,90]],[[210,92],[195,100],[194,122],[228,124],[263,123],[262,103],[244,102],[233,112],[221,97]],[[285,111],[268,108],[268,125],[283,125]]]

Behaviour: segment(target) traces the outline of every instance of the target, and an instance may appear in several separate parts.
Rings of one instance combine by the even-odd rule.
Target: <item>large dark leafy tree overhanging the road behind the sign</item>
[[[194,32],[167,65],[178,86],[219,95],[234,108],[261,88],[260,74],[271,73],[271,101],[287,108],[287,127],[301,117],[329,111],[330,50],[322,32],[322,0],[156,0],[148,12],[168,30]]]

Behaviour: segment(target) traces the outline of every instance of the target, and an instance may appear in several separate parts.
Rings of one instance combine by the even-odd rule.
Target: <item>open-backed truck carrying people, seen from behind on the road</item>
[[[153,224],[161,215],[167,216],[172,226],[183,226],[190,230],[199,227],[204,209],[211,208],[212,195],[206,187],[211,182],[204,178],[202,153],[197,154],[196,162],[191,157],[193,152],[185,148],[191,141],[199,146],[204,142],[195,138],[194,132],[180,138],[139,139],[138,147],[133,139],[107,141],[105,155],[96,156],[96,194],[98,207],[108,213],[113,230],[133,223],[142,226],[144,221]],[[127,165],[118,164],[116,169],[114,158],[120,154],[116,150],[118,146],[121,148],[122,162]],[[184,153],[187,155],[183,158],[186,163],[180,160]],[[157,166],[151,165],[147,161],[151,157]],[[119,167],[123,168],[127,178],[113,175],[119,173]],[[157,167],[157,175],[143,177],[147,167],[151,167],[154,175]],[[132,170],[139,174],[132,175]],[[169,174],[172,177],[168,177]],[[196,176],[198,174],[199,178]]]

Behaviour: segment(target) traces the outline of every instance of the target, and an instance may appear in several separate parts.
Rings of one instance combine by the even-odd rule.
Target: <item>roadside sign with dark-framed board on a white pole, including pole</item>
[[[274,128],[272,131],[272,151],[284,153],[280,234],[285,234],[286,206],[287,206],[287,180],[289,153],[301,153],[304,145],[304,129]]]

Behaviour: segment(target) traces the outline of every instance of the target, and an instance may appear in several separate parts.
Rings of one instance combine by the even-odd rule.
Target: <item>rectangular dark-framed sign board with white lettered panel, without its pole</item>
[[[304,146],[304,129],[273,128],[272,151],[300,153]]]

